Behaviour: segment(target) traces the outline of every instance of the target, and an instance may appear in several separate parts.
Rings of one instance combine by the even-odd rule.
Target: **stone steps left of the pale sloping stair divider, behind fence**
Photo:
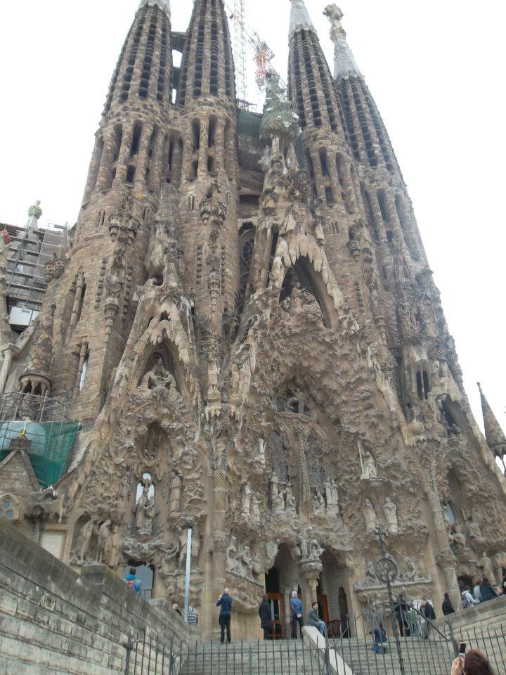
[[[179,675],[323,675],[316,650],[297,641],[202,643],[181,659]]]

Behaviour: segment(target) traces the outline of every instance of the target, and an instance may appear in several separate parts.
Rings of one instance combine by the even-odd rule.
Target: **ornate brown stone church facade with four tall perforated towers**
[[[325,14],[333,75],[292,0],[287,91],[271,75],[257,115],[236,105],[222,0],[195,0],[186,33],[141,1],[72,245],[2,352],[4,392],[81,423],[40,492],[11,442],[11,520],[77,570],[148,566],[179,603],[191,521],[207,636],[225,587],[235,638],[259,634],[264,592],[281,623],[293,590],[330,621],[384,603],[378,527],[394,592],[436,610],[506,565],[505,435],[486,399],[486,439],[472,416],[394,149]]]

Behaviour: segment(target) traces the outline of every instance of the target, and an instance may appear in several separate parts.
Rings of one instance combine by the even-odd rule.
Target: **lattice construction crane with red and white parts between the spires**
[[[233,45],[235,60],[235,75],[238,99],[242,105],[249,107],[248,103],[248,71],[247,53],[248,48],[254,52],[254,61],[257,65],[255,81],[260,91],[264,91],[266,76],[269,72],[279,75],[275,70],[272,60],[274,53],[265,40],[259,37],[256,30],[247,23],[247,0],[233,0],[233,7],[225,1],[228,18],[233,23]]]

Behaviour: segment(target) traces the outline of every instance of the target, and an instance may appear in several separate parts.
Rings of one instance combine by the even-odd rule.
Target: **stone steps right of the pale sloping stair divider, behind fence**
[[[449,675],[455,656],[451,643],[422,638],[400,638],[406,675]],[[401,675],[395,641],[386,653],[376,654],[372,640],[330,640],[330,646],[351,668],[353,675]],[[339,673],[339,675],[341,675]]]

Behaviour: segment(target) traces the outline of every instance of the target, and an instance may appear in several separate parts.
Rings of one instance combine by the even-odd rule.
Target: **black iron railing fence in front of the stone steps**
[[[370,616],[347,620],[349,631],[318,642],[271,640],[185,645],[156,635],[131,638],[125,645],[125,675],[450,675],[460,642],[484,653],[496,675],[506,673],[506,623],[453,633],[416,621],[398,636],[376,627]],[[422,619],[423,617],[420,617]],[[427,629],[427,631],[426,631]],[[406,634],[409,632],[410,634]]]

